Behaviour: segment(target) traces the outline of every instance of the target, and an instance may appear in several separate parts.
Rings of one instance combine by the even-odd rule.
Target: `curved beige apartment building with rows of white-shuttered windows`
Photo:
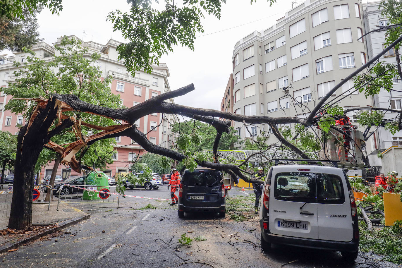
[[[320,98],[366,63],[365,40],[357,40],[364,29],[361,7],[353,0],[307,0],[275,25],[240,39],[232,56],[234,112],[306,118]],[[344,108],[372,105],[352,88],[348,81],[330,100]],[[349,90],[353,94],[343,98]],[[357,122],[356,113],[348,116]],[[268,143],[277,141],[265,124],[234,127],[242,138],[264,131]]]

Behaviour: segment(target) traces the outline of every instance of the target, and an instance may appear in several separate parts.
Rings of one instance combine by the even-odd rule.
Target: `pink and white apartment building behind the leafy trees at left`
[[[75,35],[69,36],[69,38],[75,38],[80,40]],[[53,45],[59,45],[62,41],[62,37],[57,39],[57,42]],[[117,60],[117,46],[120,44],[118,41],[110,39],[106,44],[99,44],[95,42],[83,42],[81,45],[88,48],[88,53],[85,57],[88,59],[93,53],[99,53],[100,58],[94,63],[96,67],[102,72],[102,78],[113,77],[111,83],[112,94],[119,94],[120,101],[124,106],[131,107],[158,96],[164,92],[170,91],[168,77],[170,76],[169,69],[166,63],[159,63],[153,66],[153,71],[148,74],[143,71],[138,71],[135,76],[131,76],[123,61]],[[57,51],[53,45],[46,43],[44,40],[39,41],[32,47],[32,50],[36,53],[37,57],[44,61],[52,61],[53,55],[57,55]],[[11,57],[2,56],[0,59],[0,87],[6,87],[8,83],[15,81],[14,71],[21,69],[23,66],[15,68],[13,66],[14,61],[24,63],[26,61],[27,54],[16,52]],[[9,131],[14,134],[18,132],[16,125],[25,124],[26,119],[22,115],[12,114],[9,110],[3,110],[4,105],[12,98],[12,96],[0,94],[0,130]],[[173,99],[166,100],[167,102],[174,102]],[[170,135],[170,129],[172,123],[174,123],[174,117],[172,115],[165,115],[161,113],[154,113],[140,118],[135,122],[137,128],[144,133],[148,133],[148,139],[155,144],[158,144],[165,148],[170,148],[173,145],[174,139]],[[114,175],[115,172],[120,170],[126,170],[131,166],[131,160],[137,156],[142,157],[146,151],[129,137],[116,137],[115,138],[115,151],[113,153],[113,164],[107,167],[104,171],[107,174]],[[41,172],[41,178],[51,174],[53,164],[49,164],[43,167]],[[12,172],[12,170],[10,171]],[[66,166],[59,166],[57,171],[58,175],[66,177],[69,175],[69,170]],[[71,173],[74,175],[74,171]]]

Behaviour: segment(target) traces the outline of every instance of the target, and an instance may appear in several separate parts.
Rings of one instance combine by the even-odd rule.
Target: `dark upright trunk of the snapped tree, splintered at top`
[[[51,98],[43,110],[39,105],[29,122],[19,131],[14,166],[14,186],[8,227],[17,230],[32,228],[32,192],[35,164],[43,145],[49,142],[49,128],[57,116],[60,102]],[[28,127],[29,126],[29,127]]]

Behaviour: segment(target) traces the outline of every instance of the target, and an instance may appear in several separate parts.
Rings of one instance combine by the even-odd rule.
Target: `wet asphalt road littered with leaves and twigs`
[[[127,190],[136,196],[170,198],[166,186],[158,190]],[[231,190],[230,197],[252,195]],[[258,215],[244,222],[205,213],[177,216],[170,201],[121,198],[120,208],[74,204],[91,218],[60,233],[2,254],[1,267],[370,267],[367,254],[347,265],[339,253],[274,246],[259,248]],[[154,209],[143,209],[146,205]],[[112,206],[111,206],[112,207]],[[114,206],[115,207],[115,206]],[[204,241],[180,245],[180,235],[203,236]],[[199,262],[192,264],[183,264]],[[363,264],[366,263],[366,264]],[[183,264],[183,265],[180,265]],[[392,265],[394,266],[394,265]],[[384,266],[377,266],[384,267]],[[397,266],[394,266],[397,267]]]

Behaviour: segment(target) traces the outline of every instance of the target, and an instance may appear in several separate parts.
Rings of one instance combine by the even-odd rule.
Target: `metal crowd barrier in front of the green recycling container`
[[[77,188],[74,188],[76,186]],[[88,190],[83,190],[86,188]],[[108,193],[98,193],[95,191],[100,191],[103,188],[109,189]],[[86,197],[84,198],[99,198],[99,194],[101,194],[100,199],[83,199],[84,191],[86,192]],[[120,195],[116,195],[116,186],[98,186],[98,185],[73,185],[69,184],[68,186],[62,186],[57,191],[53,190],[53,195],[58,197],[57,201],[57,210],[59,210],[59,203],[117,203],[117,209],[119,209],[119,200]]]

